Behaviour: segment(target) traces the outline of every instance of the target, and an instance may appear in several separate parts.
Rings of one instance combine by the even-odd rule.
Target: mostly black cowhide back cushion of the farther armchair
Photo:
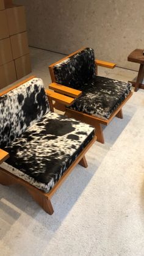
[[[92,48],[79,53],[54,66],[54,76],[58,84],[81,89],[81,86],[95,75],[95,55]]]

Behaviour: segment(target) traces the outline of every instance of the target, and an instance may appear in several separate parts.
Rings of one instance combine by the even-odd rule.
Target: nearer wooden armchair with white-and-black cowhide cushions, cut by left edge
[[[51,197],[76,164],[87,167],[85,153],[95,129],[49,111],[49,102],[73,99],[48,93],[32,76],[0,94],[0,184],[23,185],[52,214]]]

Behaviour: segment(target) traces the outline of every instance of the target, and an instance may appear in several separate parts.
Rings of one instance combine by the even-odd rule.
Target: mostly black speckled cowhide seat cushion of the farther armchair
[[[82,96],[69,108],[106,120],[128,97],[131,89],[131,84],[126,82],[93,76],[81,86]]]

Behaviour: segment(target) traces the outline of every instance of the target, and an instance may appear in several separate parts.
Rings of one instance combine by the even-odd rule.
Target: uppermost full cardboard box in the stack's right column
[[[26,31],[24,6],[15,6],[6,9],[9,34],[15,35]]]

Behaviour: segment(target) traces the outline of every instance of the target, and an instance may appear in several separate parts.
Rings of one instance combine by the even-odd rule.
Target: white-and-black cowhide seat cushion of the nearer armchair
[[[4,148],[1,167],[49,192],[93,136],[92,126],[48,112]]]

